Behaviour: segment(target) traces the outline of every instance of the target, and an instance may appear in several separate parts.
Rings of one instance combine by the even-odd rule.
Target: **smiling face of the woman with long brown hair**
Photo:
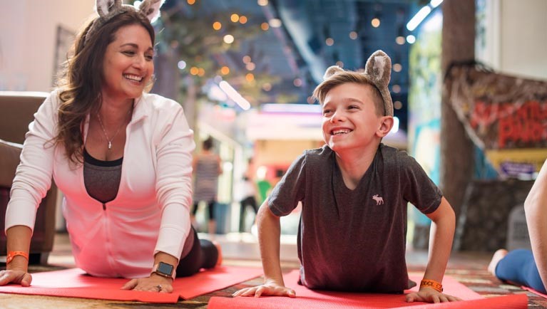
[[[119,28],[103,61],[103,98],[140,97],[154,73],[154,50],[148,31],[140,25]]]

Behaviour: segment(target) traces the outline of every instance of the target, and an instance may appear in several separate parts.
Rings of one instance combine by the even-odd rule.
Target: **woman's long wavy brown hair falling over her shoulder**
[[[155,40],[153,26],[138,11],[113,16],[96,29],[93,36],[86,38],[96,19],[89,21],[76,37],[72,46],[73,56],[66,61],[58,82],[61,104],[58,108],[58,133],[53,143],[63,145],[66,156],[75,164],[83,162],[83,120],[90,112],[101,108],[104,56],[108,44],[116,39],[116,31],[137,24],[148,31],[152,46]]]

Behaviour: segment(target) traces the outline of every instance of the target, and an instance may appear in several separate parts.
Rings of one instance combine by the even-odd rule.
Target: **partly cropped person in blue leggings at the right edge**
[[[547,293],[547,161],[524,201],[524,211],[532,250],[499,249],[488,269],[500,280]]]

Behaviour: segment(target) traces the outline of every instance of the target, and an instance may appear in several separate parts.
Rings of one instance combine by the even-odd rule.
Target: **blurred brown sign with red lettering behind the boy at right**
[[[547,157],[547,81],[471,65],[446,75],[452,107],[501,174],[533,174]]]

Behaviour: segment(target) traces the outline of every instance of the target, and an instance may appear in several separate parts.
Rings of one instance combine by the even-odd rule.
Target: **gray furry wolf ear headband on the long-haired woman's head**
[[[146,16],[150,23],[155,21],[160,16],[160,7],[163,2],[165,2],[165,0],[144,0],[136,7],[122,4],[122,0],[96,0],[95,11],[98,14],[98,18],[93,21],[93,25],[91,25],[86,33],[85,42],[87,42],[88,38],[91,38],[93,33],[95,33],[98,28],[101,28],[107,21],[114,16],[118,16],[119,14],[128,11],[140,12],[140,14]]]

